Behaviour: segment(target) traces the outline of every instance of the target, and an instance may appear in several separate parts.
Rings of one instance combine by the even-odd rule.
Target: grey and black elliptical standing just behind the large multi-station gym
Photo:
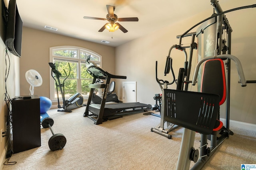
[[[195,35],[196,35],[196,33],[188,33],[188,34],[184,35],[184,37],[191,36],[190,46],[172,45],[172,47],[170,47],[168,56],[166,58],[164,76],[169,74],[170,70],[171,70],[172,71],[172,76],[173,76],[172,82],[169,82],[167,80],[158,79],[157,61],[156,61],[156,82],[158,82],[161,90],[168,89],[168,85],[173,84],[175,82],[175,75],[174,75],[174,71],[172,69],[172,58],[170,57],[170,53],[171,53],[172,49],[178,49],[180,51],[183,51],[184,54],[185,54],[184,68],[180,68],[180,70],[179,70],[178,79],[176,81],[176,84],[177,84],[176,90],[188,90],[188,83],[189,82],[186,82],[185,78],[186,78],[186,80],[189,80],[191,62],[192,62],[192,54],[193,54],[193,50],[196,49],[196,46],[197,46],[197,44],[194,42]],[[177,38],[179,38],[179,37],[180,37],[180,35],[177,36]],[[187,57],[186,48],[190,48],[189,61],[188,61],[188,57]],[[184,89],[184,83],[185,83],[185,89]],[[162,96],[161,96],[161,98],[162,98]],[[154,115],[154,113],[151,113],[151,114]],[[161,117],[160,118],[160,125],[158,125],[157,127],[151,128],[151,131],[156,132],[160,135],[163,135],[163,136],[167,137],[168,139],[171,139],[172,135],[170,135],[169,132],[172,131],[173,129],[176,129],[178,127],[178,125],[175,125],[174,123],[166,121],[165,118],[164,118],[164,113],[163,113],[162,110],[160,111],[160,115],[161,115],[160,116]]]

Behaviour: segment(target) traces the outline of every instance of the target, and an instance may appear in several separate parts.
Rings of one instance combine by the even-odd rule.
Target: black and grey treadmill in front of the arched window
[[[135,112],[135,111],[148,111],[152,108],[151,104],[142,104],[139,102],[133,103],[111,103],[106,104],[106,97],[108,88],[110,85],[111,78],[126,79],[126,76],[117,76],[106,72],[94,62],[88,61],[90,63],[87,68],[87,72],[93,76],[92,84],[89,85],[90,94],[87,101],[86,109],[84,112],[84,117],[89,117],[94,121],[94,124],[102,124],[103,121],[117,119],[122,117],[124,113]],[[96,79],[106,80],[105,84],[96,83]],[[96,88],[104,88],[104,93],[102,96],[101,104],[92,104],[92,95]],[[90,113],[89,113],[90,112]]]

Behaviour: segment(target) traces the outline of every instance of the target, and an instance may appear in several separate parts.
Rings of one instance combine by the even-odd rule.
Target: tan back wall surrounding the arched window
[[[102,68],[115,73],[115,48],[55,33],[23,27],[22,57],[20,59],[20,94],[29,95],[30,84],[26,81],[27,70],[34,69],[40,73],[43,84],[35,87],[34,94],[50,98],[50,47],[71,45],[95,51],[102,56]]]

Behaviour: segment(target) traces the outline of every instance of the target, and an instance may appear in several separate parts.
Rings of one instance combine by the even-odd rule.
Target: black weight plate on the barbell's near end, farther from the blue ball
[[[62,150],[64,146],[66,145],[66,137],[64,135],[57,133],[52,135],[48,141],[48,145],[50,150],[55,151],[55,150]]]

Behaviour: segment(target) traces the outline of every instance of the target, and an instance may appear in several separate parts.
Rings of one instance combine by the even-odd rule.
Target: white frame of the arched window
[[[75,49],[77,50],[77,58],[69,58],[69,57],[62,57],[62,56],[56,56],[53,54],[54,51],[58,50],[58,49]],[[100,59],[100,61],[94,61],[96,64],[98,64],[100,67],[102,67],[102,56],[99,55],[98,53],[83,48],[83,47],[77,47],[77,46],[56,46],[56,47],[50,47],[50,63],[54,63],[54,59],[58,59],[58,60],[62,60],[62,61],[70,61],[70,62],[75,62],[78,63],[78,75],[77,75],[77,90],[78,92],[82,91],[82,86],[81,86],[81,76],[80,76],[80,69],[81,69],[81,63],[85,62],[85,59],[80,59],[80,51],[86,51],[86,53],[89,53],[93,56],[96,56]],[[50,100],[52,102],[58,102],[58,99],[55,98],[55,89],[56,89],[56,85],[55,85],[55,81],[52,78],[52,68],[50,68]],[[83,95],[84,99],[88,99],[88,95]],[[62,101],[62,97],[59,96],[59,100]],[[65,98],[65,100],[67,100]]]

